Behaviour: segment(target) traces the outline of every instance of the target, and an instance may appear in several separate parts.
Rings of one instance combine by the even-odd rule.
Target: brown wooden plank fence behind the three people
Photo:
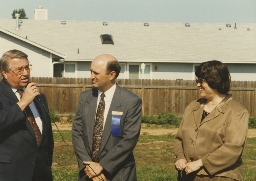
[[[49,109],[59,114],[75,113],[80,93],[92,88],[89,78],[31,77],[31,82],[45,94]],[[182,116],[186,106],[200,98],[193,80],[116,79],[116,83],[142,99],[142,114],[165,111]],[[232,81],[229,93],[256,117],[256,81]]]

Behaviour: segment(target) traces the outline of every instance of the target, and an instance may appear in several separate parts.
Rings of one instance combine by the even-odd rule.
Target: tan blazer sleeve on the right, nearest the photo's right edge
[[[246,143],[248,112],[236,112],[228,123],[225,143],[216,151],[202,157],[204,167],[211,175],[226,169],[240,160]]]

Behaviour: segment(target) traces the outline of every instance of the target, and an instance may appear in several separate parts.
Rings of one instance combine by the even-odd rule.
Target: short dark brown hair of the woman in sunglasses
[[[198,78],[204,79],[212,89],[217,89],[220,94],[230,90],[230,74],[228,67],[217,60],[201,63],[195,72]]]

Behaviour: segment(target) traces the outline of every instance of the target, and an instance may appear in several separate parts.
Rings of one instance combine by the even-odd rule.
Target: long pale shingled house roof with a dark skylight
[[[256,24],[154,23],[0,19],[0,31],[34,42],[66,56],[70,61],[92,61],[112,54],[120,62],[256,63]],[[221,28],[221,30],[219,30]],[[250,31],[247,30],[250,28]],[[5,32],[4,32],[5,33]],[[111,34],[114,45],[101,43],[101,34]],[[77,50],[79,48],[79,54]],[[60,56],[59,55],[59,56]],[[62,57],[62,56],[61,56]]]

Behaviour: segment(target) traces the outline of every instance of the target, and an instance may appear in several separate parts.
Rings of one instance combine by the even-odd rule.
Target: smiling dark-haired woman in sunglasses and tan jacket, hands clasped
[[[174,139],[175,166],[194,181],[243,180],[248,112],[233,100],[224,63],[209,61],[196,69],[201,99],[190,103]]]

